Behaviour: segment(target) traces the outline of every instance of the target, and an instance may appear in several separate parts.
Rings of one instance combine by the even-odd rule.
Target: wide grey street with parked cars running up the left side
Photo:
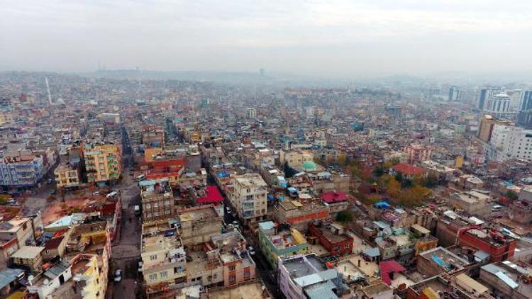
[[[131,177],[131,168],[123,171],[123,180],[118,187],[122,198],[122,219],[118,236],[111,249],[111,273],[122,270],[122,281],[114,283],[109,278],[107,298],[135,298],[138,293],[138,261],[140,260],[141,220],[134,215],[133,207],[140,204],[139,190]],[[113,274],[111,274],[113,276]]]

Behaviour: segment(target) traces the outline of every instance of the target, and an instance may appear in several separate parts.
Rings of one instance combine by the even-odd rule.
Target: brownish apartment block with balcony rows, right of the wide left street
[[[144,221],[174,217],[174,194],[168,179],[140,181],[139,186]]]

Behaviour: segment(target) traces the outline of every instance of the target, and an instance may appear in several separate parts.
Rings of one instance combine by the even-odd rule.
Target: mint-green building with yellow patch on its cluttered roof
[[[262,254],[273,269],[277,269],[277,261],[294,254],[308,252],[306,239],[294,227],[279,229],[279,225],[272,221],[259,223],[259,245]]]

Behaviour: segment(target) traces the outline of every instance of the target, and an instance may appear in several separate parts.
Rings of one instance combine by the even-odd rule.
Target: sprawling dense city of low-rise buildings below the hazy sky
[[[2,298],[532,298],[531,86],[253,76],[0,73]]]

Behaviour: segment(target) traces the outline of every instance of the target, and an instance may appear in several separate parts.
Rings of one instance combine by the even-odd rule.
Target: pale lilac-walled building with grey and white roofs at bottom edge
[[[277,280],[287,299],[340,298],[347,290],[341,274],[327,267],[316,254],[279,258]]]

